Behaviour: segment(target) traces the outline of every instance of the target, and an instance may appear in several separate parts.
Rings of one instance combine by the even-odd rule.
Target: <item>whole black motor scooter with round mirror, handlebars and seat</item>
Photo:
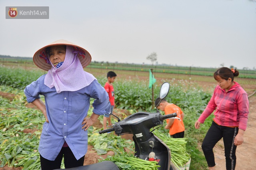
[[[160,88],[161,101],[168,95],[169,89],[170,89],[169,83],[165,82],[161,85],[161,88]],[[161,103],[161,101],[159,103]],[[154,159],[158,160],[159,161],[158,165],[160,165],[158,170],[177,170],[176,166],[174,166],[174,164],[171,162],[170,148],[168,148],[168,146],[160,138],[158,138],[152,133],[155,129],[150,131],[150,129],[152,129],[153,127],[163,125],[163,121],[165,119],[170,119],[170,118],[174,119],[176,116],[177,116],[177,113],[172,113],[169,115],[161,115],[158,110],[156,113],[138,112],[126,117],[122,121],[120,121],[120,119],[118,118],[118,122],[114,124],[114,127],[108,128],[105,130],[100,130],[99,133],[103,134],[103,133],[115,131],[115,133],[118,136],[123,134],[133,134],[133,140],[135,143],[134,156],[140,159],[149,160],[150,152],[154,152],[154,156],[155,156]],[[104,164],[104,162],[106,161],[99,162],[99,163]],[[102,167],[100,166],[97,167],[97,164],[99,163],[86,165],[86,166],[94,166],[93,167],[94,169],[92,168],[93,170],[102,169]],[[114,163],[111,164],[111,162],[108,161],[108,164],[112,166]],[[88,170],[86,166],[69,168],[68,170]],[[104,168],[106,168],[105,165],[104,165]],[[116,167],[111,167],[109,168],[109,170],[118,170],[118,169],[116,169]]]

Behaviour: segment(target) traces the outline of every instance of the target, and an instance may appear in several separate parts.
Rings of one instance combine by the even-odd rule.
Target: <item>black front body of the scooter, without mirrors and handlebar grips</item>
[[[162,116],[160,113],[138,112],[130,115],[123,121],[114,125],[116,134],[132,133],[135,144],[134,156],[148,160],[148,154],[154,152],[156,158],[160,159],[158,170],[176,170],[172,164],[171,151],[164,142],[155,136],[150,129],[163,122],[159,119]]]

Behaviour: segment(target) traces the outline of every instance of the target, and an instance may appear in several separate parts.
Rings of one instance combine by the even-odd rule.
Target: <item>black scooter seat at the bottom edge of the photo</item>
[[[63,169],[56,169],[63,170]],[[76,168],[67,168],[65,170],[119,170],[118,166],[112,161],[102,161],[96,164],[78,166]]]

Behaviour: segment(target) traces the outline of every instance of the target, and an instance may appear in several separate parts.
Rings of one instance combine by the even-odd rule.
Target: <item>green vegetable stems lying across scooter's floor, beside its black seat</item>
[[[158,170],[158,167],[160,167],[157,161],[143,160],[121,151],[114,156],[109,155],[106,159],[99,160],[99,162],[105,160],[114,162],[120,170]]]

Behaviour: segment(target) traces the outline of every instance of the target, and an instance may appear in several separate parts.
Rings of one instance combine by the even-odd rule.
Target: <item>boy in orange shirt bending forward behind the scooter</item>
[[[158,97],[155,101],[155,106],[158,105],[160,102],[160,98]],[[174,105],[173,103],[168,103],[165,99],[162,99],[161,103],[157,107],[158,110],[164,111],[165,115],[171,114],[171,113],[177,113],[178,119],[166,119],[167,125],[164,127],[169,130],[169,134],[173,138],[184,138],[184,123],[183,123],[183,118],[184,118],[184,113],[180,109],[180,107]]]

